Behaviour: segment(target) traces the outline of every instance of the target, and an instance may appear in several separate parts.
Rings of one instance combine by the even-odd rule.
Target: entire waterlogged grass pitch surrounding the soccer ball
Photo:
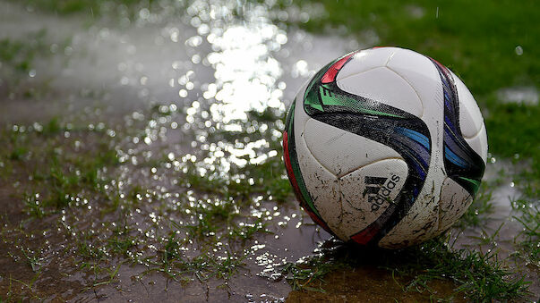
[[[535,6],[0,1],[0,301],[538,300]],[[454,69],[492,152],[397,251],[331,239],[281,160],[296,89],[375,45]]]

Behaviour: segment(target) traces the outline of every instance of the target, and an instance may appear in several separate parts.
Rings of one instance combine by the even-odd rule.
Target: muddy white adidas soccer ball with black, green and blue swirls
[[[287,114],[287,175],[315,223],[340,240],[403,248],[450,228],[484,174],[476,101],[441,63],[375,47],[329,63]]]

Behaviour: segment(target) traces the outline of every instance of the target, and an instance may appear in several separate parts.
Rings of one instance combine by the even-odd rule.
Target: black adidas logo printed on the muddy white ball
[[[398,182],[398,175],[392,175],[390,178],[365,176],[362,197],[367,196],[367,201],[372,205],[372,212],[379,210],[385,201],[390,200],[390,192],[396,188]]]

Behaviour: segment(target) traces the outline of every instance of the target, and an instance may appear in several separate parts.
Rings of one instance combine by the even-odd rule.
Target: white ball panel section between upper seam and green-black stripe
[[[380,101],[417,117],[424,112],[415,90],[397,73],[384,66],[357,73],[337,83],[347,93]]]

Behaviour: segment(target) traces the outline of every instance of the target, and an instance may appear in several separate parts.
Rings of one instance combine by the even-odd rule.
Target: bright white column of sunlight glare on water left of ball
[[[196,138],[199,142],[193,143],[193,146],[201,145],[202,149],[209,150],[209,157],[200,162],[205,166],[199,167],[201,175],[211,172],[226,176],[231,163],[244,167],[248,163],[263,163],[269,157],[278,155],[276,150],[261,151],[269,147],[266,139],[205,142],[209,132],[213,131],[273,131],[274,139],[281,136],[282,129],[268,130],[268,125],[264,123],[248,121],[247,113],[262,113],[269,108],[276,110],[274,114],[284,113],[282,89],[285,85],[278,82],[283,70],[273,54],[287,43],[287,33],[271,23],[268,11],[262,5],[251,4],[253,7],[244,11],[242,21],[234,20],[232,4],[235,3],[207,6],[204,2],[196,1],[187,10],[193,14],[193,18],[209,21],[208,25],[199,25],[199,29],[203,28],[201,34],[208,34],[206,40],[211,48],[202,62],[210,64],[215,78],[213,83],[201,85],[202,98],[194,101],[186,111],[189,125],[185,127],[201,125]],[[207,15],[210,18],[201,17]],[[207,27],[210,30],[206,30]],[[199,37],[189,38],[186,43],[197,41],[196,44],[200,44]],[[283,126],[283,123],[279,124]],[[226,157],[225,153],[229,156]]]

